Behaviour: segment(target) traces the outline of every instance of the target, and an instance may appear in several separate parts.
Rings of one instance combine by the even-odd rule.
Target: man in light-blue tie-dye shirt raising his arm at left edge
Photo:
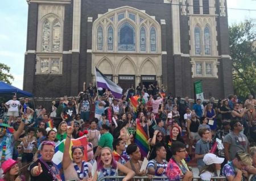
[[[17,131],[13,134],[9,133],[10,126],[8,124],[0,124],[0,166],[1,163],[6,161],[9,158],[13,158],[13,148],[14,142],[18,140],[20,134],[24,129],[24,123],[21,122]],[[0,169],[0,175],[2,173],[2,169]],[[1,178],[1,176],[0,176]]]

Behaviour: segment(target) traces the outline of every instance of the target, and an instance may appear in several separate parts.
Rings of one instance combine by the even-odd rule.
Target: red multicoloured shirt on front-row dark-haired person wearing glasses
[[[185,172],[189,171],[187,163],[184,161],[184,159],[181,160],[181,163],[182,165],[178,166],[174,161],[174,158],[170,159],[166,169],[166,175],[169,180],[180,180]]]

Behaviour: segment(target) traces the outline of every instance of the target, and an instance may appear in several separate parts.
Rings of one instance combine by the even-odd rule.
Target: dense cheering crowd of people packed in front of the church
[[[35,108],[28,98],[19,101],[16,95],[2,103],[0,180],[96,181],[123,176],[126,181],[147,176],[185,181],[196,176],[188,166],[192,159],[202,180],[220,175],[229,181],[256,179],[256,100],[252,95],[244,103],[236,95],[193,103],[154,85],[131,86],[126,94],[117,99],[107,89],[84,83],[78,96],[53,100],[51,108]],[[130,99],[134,95],[135,104]],[[61,122],[47,127],[56,117]],[[150,146],[146,166],[135,144],[138,125]],[[72,138],[84,134],[87,149],[71,146]],[[59,169],[53,155],[63,140]]]

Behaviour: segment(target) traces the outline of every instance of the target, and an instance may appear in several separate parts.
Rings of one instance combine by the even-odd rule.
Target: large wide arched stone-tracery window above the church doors
[[[133,7],[111,10],[93,23],[93,52],[160,53],[160,30],[152,16]]]

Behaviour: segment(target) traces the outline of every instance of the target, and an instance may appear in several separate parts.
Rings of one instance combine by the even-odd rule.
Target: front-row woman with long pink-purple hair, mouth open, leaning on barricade
[[[130,170],[126,166],[115,161],[110,148],[102,148],[97,159],[97,171],[93,176],[93,181],[101,180],[101,178],[104,178],[105,176],[113,176],[113,179],[110,180],[115,180],[114,176],[118,176],[118,170],[126,175],[122,181],[127,181],[135,175],[133,170]]]

